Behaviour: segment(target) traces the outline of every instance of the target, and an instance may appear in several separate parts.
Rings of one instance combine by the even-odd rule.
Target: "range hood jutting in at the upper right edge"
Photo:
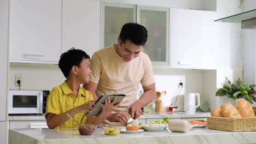
[[[215,20],[216,22],[241,23],[241,28],[256,29],[256,9]]]

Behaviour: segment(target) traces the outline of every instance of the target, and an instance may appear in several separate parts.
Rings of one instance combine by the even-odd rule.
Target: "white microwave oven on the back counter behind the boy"
[[[9,114],[43,114],[50,91],[9,90]]]

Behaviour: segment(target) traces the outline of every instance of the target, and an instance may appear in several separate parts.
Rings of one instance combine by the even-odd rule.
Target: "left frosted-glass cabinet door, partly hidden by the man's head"
[[[136,22],[136,5],[102,3],[101,48],[116,44],[125,23]]]

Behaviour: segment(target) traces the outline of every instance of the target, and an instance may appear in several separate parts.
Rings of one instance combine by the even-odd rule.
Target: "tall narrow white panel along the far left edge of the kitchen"
[[[0,143],[7,143],[9,0],[0,0]]]

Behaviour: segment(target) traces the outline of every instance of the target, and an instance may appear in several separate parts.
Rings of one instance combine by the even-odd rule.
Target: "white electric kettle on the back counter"
[[[197,105],[196,105],[196,101],[197,101]],[[200,106],[199,93],[184,93],[184,111],[186,113],[195,113],[196,108],[199,106]]]

